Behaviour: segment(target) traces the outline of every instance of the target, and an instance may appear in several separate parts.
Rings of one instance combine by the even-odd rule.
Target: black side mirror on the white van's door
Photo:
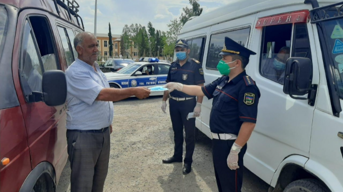
[[[313,68],[310,59],[300,57],[287,59],[283,93],[294,99],[310,99],[309,104],[312,101],[314,102],[314,98],[312,98],[314,93],[312,91],[316,91],[317,85],[312,85],[312,76]],[[309,94],[308,98],[296,97],[306,94]]]

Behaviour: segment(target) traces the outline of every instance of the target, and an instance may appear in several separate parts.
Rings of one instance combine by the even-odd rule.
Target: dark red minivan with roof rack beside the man
[[[66,165],[75,0],[0,0],[0,192],[54,192]]]

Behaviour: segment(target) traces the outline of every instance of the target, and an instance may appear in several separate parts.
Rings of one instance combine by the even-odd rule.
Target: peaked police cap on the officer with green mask
[[[244,46],[240,45],[236,41],[230,39],[229,37],[225,37],[224,46],[222,52],[219,55],[240,55],[249,59],[250,55],[256,55],[254,51],[251,51]]]

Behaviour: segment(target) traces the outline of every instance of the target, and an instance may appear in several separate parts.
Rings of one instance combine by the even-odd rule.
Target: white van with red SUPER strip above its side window
[[[313,1],[314,4],[317,2]],[[318,0],[318,3],[322,7],[338,2]],[[244,161],[245,166],[269,184],[270,190],[274,192],[282,192],[290,183],[309,178],[318,180],[332,192],[343,192],[343,112],[340,109],[343,107],[343,56],[335,55],[336,61],[342,62],[342,65],[338,64],[341,82],[338,82],[339,79],[331,82],[328,76],[331,75],[332,79],[331,73],[334,72],[328,73],[325,69],[328,64],[325,62],[324,50],[321,48],[323,41],[321,42],[316,23],[307,19],[297,24],[298,17],[294,18],[295,22],[290,22],[289,18],[288,22],[291,24],[280,19],[280,24],[268,25],[274,15],[282,14],[281,16],[288,17],[294,12],[306,13],[306,10],[312,9],[312,4],[304,3],[304,0],[233,0],[223,7],[187,21],[178,36],[178,39],[186,39],[190,44],[190,57],[202,63],[205,85],[221,76],[216,69],[220,57],[216,55],[223,47],[225,36],[235,41],[239,39],[239,43],[257,53],[250,57],[246,71],[256,82],[261,97],[257,124],[248,141]],[[260,20],[266,26],[257,27],[258,19],[263,17],[269,18],[267,21]],[[279,22],[278,18],[274,18],[274,23]],[[342,22],[342,18],[340,21]],[[279,34],[271,32],[272,26],[275,33]],[[281,31],[280,27],[285,29]],[[277,30],[281,32],[276,32]],[[263,33],[269,35],[263,36]],[[273,35],[280,35],[275,42],[271,39]],[[307,55],[307,58],[312,60],[312,85],[318,88],[312,94],[314,99],[311,105],[308,99],[294,99],[286,95],[283,92],[283,83],[262,75],[260,65],[263,59],[269,59],[277,53],[277,50],[268,46],[275,48],[278,39],[286,39],[287,35],[290,40],[286,40],[285,45],[290,47],[290,57]],[[335,36],[342,38],[343,33],[339,32],[332,37]],[[264,42],[267,38],[270,43]],[[309,47],[301,42],[303,40]],[[263,53],[265,43],[267,50]],[[340,48],[339,45],[335,47],[333,52]],[[338,90],[335,92],[330,86],[336,86]],[[340,90],[341,93],[338,93]],[[307,96],[308,94],[305,94],[301,97]],[[202,116],[196,119],[196,127],[211,138],[209,118],[212,100],[204,97],[202,103]],[[301,186],[299,190],[302,190]]]

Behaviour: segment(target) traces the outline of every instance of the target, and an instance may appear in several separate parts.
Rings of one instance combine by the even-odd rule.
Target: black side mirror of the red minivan
[[[64,104],[67,99],[66,75],[61,70],[49,70],[43,73],[42,91],[44,102],[48,106]]]

